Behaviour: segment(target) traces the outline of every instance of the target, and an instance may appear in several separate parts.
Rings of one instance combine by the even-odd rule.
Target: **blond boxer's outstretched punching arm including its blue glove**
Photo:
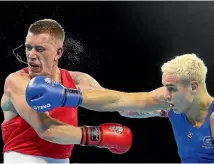
[[[55,107],[82,106],[95,111],[131,110],[137,113],[165,110],[164,87],[151,92],[125,93],[108,89],[65,88],[52,79],[43,76],[33,78],[26,89],[28,104],[37,112],[49,111]],[[49,104],[49,105],[47,105]],[[40,107],[43,106],[41,109]]]

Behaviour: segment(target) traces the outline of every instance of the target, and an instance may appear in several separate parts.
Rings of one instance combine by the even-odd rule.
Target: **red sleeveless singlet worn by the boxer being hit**
[[[28,69],[24,68],[27,73]],[[75,84],[65,69],[60,69],[63,86],[76,88]],[[78,108],[59,107],[49,112],[50,116],[73,126],[78,124]],[[3,122],[2,138],[4,141],[3,153],[16,151],[23,154],[44,156],[57,159],[69,158],[74,145],[59,145],[41,139],[34,129],[19,115]]]

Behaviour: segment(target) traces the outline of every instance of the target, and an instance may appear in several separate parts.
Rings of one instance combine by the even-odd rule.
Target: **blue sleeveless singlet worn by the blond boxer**
[[[183,163],[214,162],[214,142],[210,129],[210,115],[214,112],[211,104],[208,116],[200,128],[193,127],[184,114],[175,114],[170,110],[168,115],[172,124],[178,153]]]

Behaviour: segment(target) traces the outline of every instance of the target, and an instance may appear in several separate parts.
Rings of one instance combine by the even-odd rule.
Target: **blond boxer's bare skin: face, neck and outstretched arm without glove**
[[[171,109],[184,113],[192,126],[199,128],[204,123],[213,102],[206,90],[206,84],[175,75],[162,75],[163,87],[151,92],[125,93],[114,90],[83,91],[82,106],[95,111],[119,111],[126,116],[127,111],[136,113],[132,118],[140,118],[145,112]],[[127,117],[129,117],[127,115]],[[211,135],[214,139],[214,114],[211,114]]]

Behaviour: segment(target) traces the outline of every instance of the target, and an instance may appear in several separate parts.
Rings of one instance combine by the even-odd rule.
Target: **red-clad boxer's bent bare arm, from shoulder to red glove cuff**
[[[79,127],[55,120],[48,113],[37,113],[27,105],[25,89],[28,82],[29,77],[26,74],[16,72],[9,75],[5,81],[3,95],[9,99],[1,102],[1,106],[7,106],[7,103],[11,101],[17,113],[44,140],[57,144],[79,144],[82,138],[82,132]]]

